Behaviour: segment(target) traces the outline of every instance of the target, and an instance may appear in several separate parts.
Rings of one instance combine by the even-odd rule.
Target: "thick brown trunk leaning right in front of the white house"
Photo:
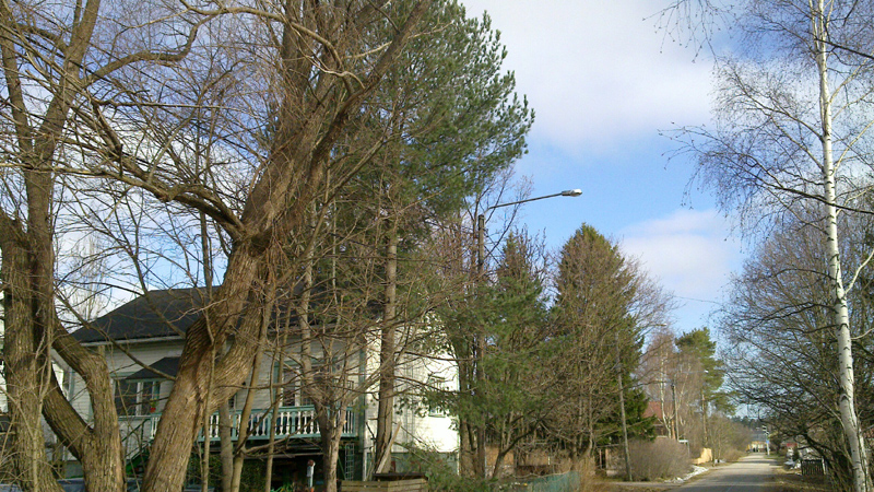
[[[284,27],[281,48],[286,55],[294,55],[282,57],[280,67],[282,101],[277,112],[279,126],[271,142],[268,164],[246,200],[240,219],[243,231],[238,231],[239,239],[228,258],[225,282],[216,290],[214,303],[208,309],[215,340],[206,336],[202,319],[186,332],[176,382],[152,445],[143,492],[181,489],[198,422],[204,412],[217,408],[203,406],[205,374],[211,363],[210,345],[225,343],[229,331],[236,330],[233,344],[216,363],[215,383],[220,388],[237,387],[251,367],[253,352],[260,350],[253,340],[257,325],[251,326],[258,323],[257,317],[246,316],[244,308],[255,280],[265,274],[261,270],[264,255],[270,249],[281,254],[285,237],[300,225],[316,190],[323,183],[326,163],[334,144],[344,134],[350,119],[395,62],[429,5],[430,0],[420,0],[412,7],[370,71],[362,78],[363,86],[352,93],[336,90],[326,82],[319,84],[323,94],[310,98],[307,73],[314,66],[307,57],[297,54],[310,52],[311,46],[308,38],[302,40],[304,37],[298,35],[296,27]],[[299,46],[295,45],[297,43]],[[299,70],[298,63],[306,70]],[[302,114],[306,116],[300,117]],[[229,394],[223,393],[221,397],[216,395],[215,400],[226,397]]]

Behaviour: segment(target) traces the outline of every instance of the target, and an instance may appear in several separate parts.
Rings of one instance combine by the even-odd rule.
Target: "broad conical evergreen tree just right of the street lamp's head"
[[[553,405],[546,418],[552,437],[576,458],[589,458],[604,441],[616,442],[617,372],[623,388],[640,360],[641,333],[661,315],[664,300],[618,245],[590,225],[562,249],[552,308],[548,367]],[[645,398],[624,389],[626,419],[640,430]],[[646,431],[645,431],[646,433]]]

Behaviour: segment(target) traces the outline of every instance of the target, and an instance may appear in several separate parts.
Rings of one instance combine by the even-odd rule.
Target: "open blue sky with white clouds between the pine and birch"
[[[713,326],[744,258],[730,218],[693,187],[694,163],[669,159],[661,131],[710,119],[711,60],[658,27],[666,0],[461,0],[492,17],[505,69],[534,108],[529,153],[516,164],[531,196],[580,188],[520,210],[530,232],[559,248],[583,223],[617,241],[673,292],[672,328]]]

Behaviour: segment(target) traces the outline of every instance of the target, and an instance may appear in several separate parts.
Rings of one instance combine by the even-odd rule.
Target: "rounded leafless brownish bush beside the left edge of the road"
[[[688,448],[674,440],[631,441],[628,448],[634,480],[670,479],[692,469]]]

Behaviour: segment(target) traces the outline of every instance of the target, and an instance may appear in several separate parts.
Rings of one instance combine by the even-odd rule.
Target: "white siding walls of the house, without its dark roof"
[[[128,343],[123,347],[113,344],[92,344],[91,349],[102,353],[106,358],[107,365],[113,376],[116,379],[123,379],[133,373],[141,371],[143,364],[150,365],[164,358],[179,356],[182,351],[184,341],[181,339],[172,340],[152,340]],[[297,347],[296,344],[294,347]],[[342,345],[334,345],[333,350],[342,352]],[[314,359],[322,359],[320,350],[315,350]],[[131,356],[131,354],[133,356]],[[135,361],[134,361],[135,359]],[[138,362],[139,361],[139,362]],[[295,354],[286,358],[286,363],[294,366],[297,365],[299,356]],[[251,440],[265,440],[269,436],[270,425],[262,422],[262,417],[271,408],[273,395],[277,394],[277,389],[269,389],[272,385],[274,388],[281,376],[281,365],[277,358],[270,353],[264,353],[259,371],[258,386],[263,388],[255,394],[252,405],[252,419],[250,420],[250,434]],[[352,376],[350,384],[354,384],[361,388],[366,383],[368,377],[373,377],[375,371],[379,367],[379,350],[378,342],[369,343],[366,350],[361,350],[352,355],[349,361],[347,368],[351,368]],[[453,419],[447,417],[441,412],[429,411],[428,408],[422,402],[422,389],[424,383],[427,383],[429,377],[442,380],[441,386],[446,389],[457,389],[457,372],[454,365],[446,360],[429,360],[418,356],[405,356],[402,359],[398,366],[399,372],[399,386],[398,389],[404,394],[403,398],[398,398],[395,423],[401,424],[401,432],[397,436],[395,445],[392,453],[399,457],[406,452],[408,446],[414,445],[416,447],[425,447],[432,450],[437,450],[445,454],[452,454],[458,449],[458,434],[452,429]],[[86,420],[92,418],[90,398],[85,391],[85,385],[81,376],[70,373],[72,378],[70,386],[73,388],[70,395],[73,408]],[[411,382],[418,383],[411,383]],[[403,383],[405,382],[405,383]],[[245,385],[248,385],[247,379]],[[157,405],[155,406],[155,413],[152,415],[138,415],[138,417],[120,417],[120,430],[122,440],[125,440],[126,455],[129,459],[138,456],[142,449],[146,447],[149,442],[153,438],[154,431],[157,426],[160,413],[164,410],[164,406],[173,388],[173,382],[163,380],[160,385]],[[299,389],[298,389],[299,391]],[[355,470],[355,476],[365,473],[367,469],[373,469],[373,464],[367,462],[373,459],[374,440],[376,434],[376,395],[378,394],[378,385],[368,388],[368,393],[362,395],[358,400],[353,403],[347,411],[350,412],[350,425],[344,430],[345,444],[343,449],[347,457],[355,456],[356,462],[345,462],[344,467],[350,470]],[[243,408],[247,395],[247,389],[241,388],[236,394],[235,408],[237,411]],[[317,429],[310,422],[314,422],[314,413],[311,407],[300,407],[302,399],[296,398],[297,407],[283,407],[280,406],[280,414],[274,420],[276,429],[284,430],[293,436],[299,436],[305,440],[302,441],[311,443],[314,437],[317,437]],[[237,419],[237,417],[232,417]],[[211,419],[212,426],[206,435],[210,438],[217,440],[217,419],[215,415]],[[251,426],[251,423],[255,426]],[[277,436],[282,438],[283,436]],[[350,438],[352,437],[352,441]],[[349,459],[349,458],[344,458]],[[402,461],[401,458],[399,461]],[[364,462],[362,462],[364,461]]]

